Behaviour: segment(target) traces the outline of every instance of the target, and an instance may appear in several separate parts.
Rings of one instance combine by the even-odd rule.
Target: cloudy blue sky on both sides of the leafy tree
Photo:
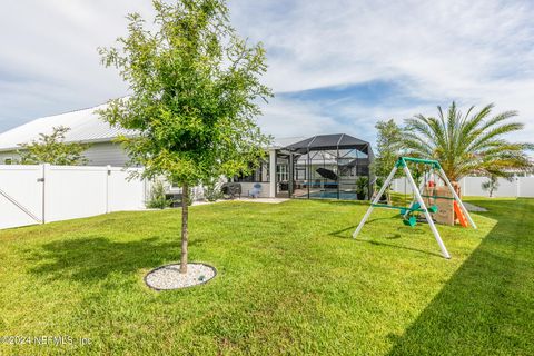
[[[277,137],[346,132],[375,141],[402,122],[461,107],[518,110],[534,137],[532,1],[230,0],[243,37],[261,41],[276,97],[258,118]],[[0,131],[123,96],[96,48],[122,34],[149,1],[4,0],[0,12]]]

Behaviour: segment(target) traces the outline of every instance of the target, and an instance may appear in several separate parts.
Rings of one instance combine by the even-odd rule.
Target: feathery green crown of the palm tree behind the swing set
[[[504,138],[523,129],[523,123],[508,121],[517,112],[491,116],[493,107],[487,105],[478,112],[471,107],[462,115],[453,101],[446,115],[437,107],[437,118],[419,113],[406,119],[406,148],[411,155],[437,159],[452,181],[472,174],[510,177],[511,170],[532,168],[525,150],[534,146]]]

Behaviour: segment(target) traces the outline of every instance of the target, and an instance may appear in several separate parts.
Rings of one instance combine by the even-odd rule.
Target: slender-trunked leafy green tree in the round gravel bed
[[[144,176],[165,176],[182,188],[180,273],[187,273],[189,188],[221,175],[248,172],[270,140],[256,125],[263,46],[249,46],[229,22],[224,0],[152,1],[155,30],[128,16],[119,48],[100,49],[102,62],[119,69],[131,96],[109,101],[101,117],[136,130],[121,137]]]

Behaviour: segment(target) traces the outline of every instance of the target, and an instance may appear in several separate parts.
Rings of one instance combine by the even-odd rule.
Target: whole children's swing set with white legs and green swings
[[[412,177],[412,174],[408,168],[408,162],[425,165],[426,169],[423,174],[423,180],[419,187],[417,187],[414,178]],[[380,197],[386,191],[387,187],[392,184],[395,177],[395,174],[399,168],[402,168],[404,174],[406,175],[406,179],[412,188],[412,191],[414,192],[413,200],[408,206],[378,204]],[[436,178],[439,178],[445,182],[445,186],[451,191],[452,197],[437,195]],[[422,194],[422,191],[424,194]],[[404,197],[405,197],[405,204],[406,204],[407,202],[406,181],[404,187]],[[426,202],[424,198],[426,198]],[[448,180],[447,176],[445,175],[445,171],[443,170],[442,166],[437,160],[412,158],[412,157],[399,157],[395,164],[395,167],[392,169],[392,172],[387,177],[386,181],[384,181],[384,185],[382,186],[380,190],[373,199],[369,208],[367,209],[367,212],[364,215],[362,221],[359,222],[358,227],[354,231],[353,238],[356,238],[359,231],[362,231],[362,228],[364,227],[365,222],[369,218],[374,208],[386,208],[386,209],[399,210],[400,215],[403,216],[403,224],[411,227],[414,227],[417,225],[417,221],[418,221],[417,215],[423,214],[425,216],[426,222],[428,222],[428,226],[431,227],[431,230],[434,234],[434,237],[436,238],[437,244],[439,245],[443,257],[451,258],[451,255],[448,254],[447,248],[445,247],[445,244],[443,243],[442,237],[439,236],[439,231],[437,231],[437,228],[434,224],[434,219],[432,217],[432,214],[438,212],[438,206],[435,204],[431,205],[431,202],[432,201],[435,202],[438,199],[453,200],[454,212],[457,215],[462,226],[467,227],[467,221],[468,221],[468,224],[476,229],[476,225],[471,218],[469,212],[467,211],[464,204],[459,199],[458,195],[454,190],[453,185]]]

